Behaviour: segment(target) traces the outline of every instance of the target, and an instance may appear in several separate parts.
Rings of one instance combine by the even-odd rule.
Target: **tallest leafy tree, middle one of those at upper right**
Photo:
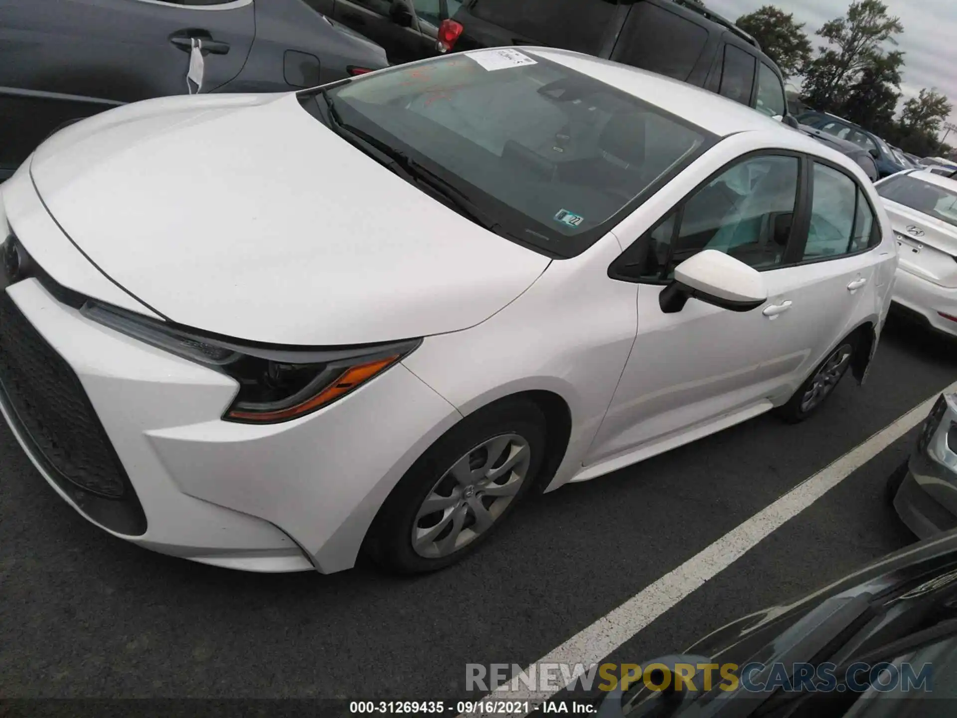
[[[880,45],[903,32],[901,18],[887,14],[881,0],[855,0],[846,17],[837,17],[817,31],[828,41],[804,69],[804,94],[813,107],[835,109],[861,73],[883,56]]]

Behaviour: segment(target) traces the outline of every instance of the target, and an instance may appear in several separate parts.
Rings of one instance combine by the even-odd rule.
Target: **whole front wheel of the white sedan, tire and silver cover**
[[[396,573],[444,569],[501,526],[534,482],[545,417],[531,401],[502,401],[439,438],[389,494],[367,552]]]

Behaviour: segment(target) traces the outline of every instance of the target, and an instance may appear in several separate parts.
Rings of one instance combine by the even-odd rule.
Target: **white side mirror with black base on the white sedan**
[[[745,262],[706,249],[675,268],[675,280],[658,295],[658,303],[665,314],[674,314],[691,298],[746,312],[768,301],[768,287],[761,273]]]

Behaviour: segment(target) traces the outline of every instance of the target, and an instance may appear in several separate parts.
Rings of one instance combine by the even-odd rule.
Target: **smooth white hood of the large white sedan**
[[[140,302],[258,342],[456,331],[549,262],[405,182],[294,94],[126,105],[56,133],[31,173],[64,233]]]

